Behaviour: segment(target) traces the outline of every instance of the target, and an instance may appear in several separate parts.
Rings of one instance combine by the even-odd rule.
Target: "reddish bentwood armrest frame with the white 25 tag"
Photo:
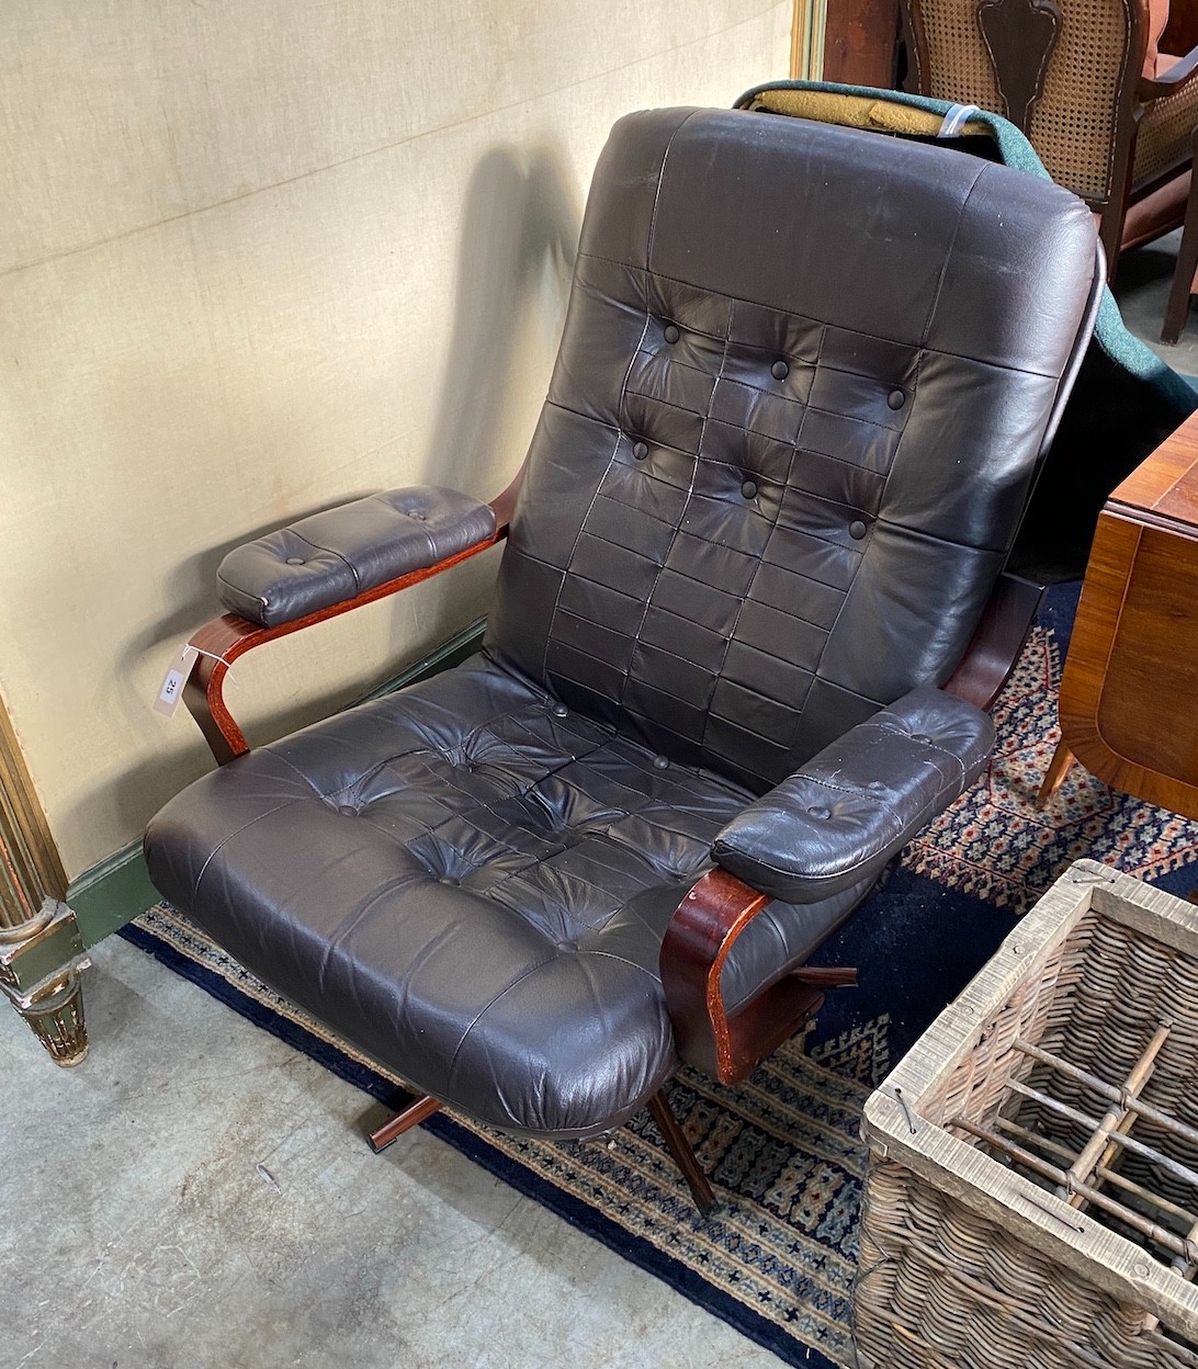
[[[386,598],[389,594],[408,589],[409,585],[419,585],[420,580],[439,575],[441,571],[448,571],[452,565],[468,561],[470,557],[478,556],[479,552],[494,546],[496,542],[502,541],[508,535],[508,524],[512,520],[512,511],[515,509],[516,496],[520,491],[523,478],[524,468],[520,467],[516,478],[502,494],[490,501],[490,508],[496,515],[494,535],[483,542],[476,542],[474,546],[468,546],[456,556],[446,556],[444,561],[438,561],[435,565],[409,571],[407,575],[400,575],[385,585],[377,585],[371,590],[364,590],[351,600],[330,604],[315,613],[305,613],[304,617],[293,619],[290,623],[279,623],[277,627],[262,627],[262,624],[251,623],[249,619],[241,617],[238,613],[223,613],[193,632],[188,645],[194,646],[199,656],[192,664],[190,674],[183,684],[183,702],[204,734],[204,739],[216,757],[216,764],[225,765],[234,757],[244,756],[249,750],[249,742],[246,742],[245,734],[229,712],[223,694],[225,676],[229,674],[230,665],[240,656],[245,656],[246,652],[252,652],[256,646],[264,646],[267,642],[288,637],[290,632],[298,632],[304,627],[312,627],[314,623],[323,623],[326,619],[338,617],[341,613],[361,608],[364,604]]]

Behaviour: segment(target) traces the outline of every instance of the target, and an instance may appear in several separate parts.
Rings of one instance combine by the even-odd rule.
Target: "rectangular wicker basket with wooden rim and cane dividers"
[[[1198,1369],[1198,908],[1079,861],[863,1131],[863,1369]]]

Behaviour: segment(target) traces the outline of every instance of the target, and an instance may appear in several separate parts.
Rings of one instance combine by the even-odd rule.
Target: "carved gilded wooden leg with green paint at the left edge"
[[[88,1053],[79,972],[89,964],[58,847],[0,702],[0,993],[59,1065]]]

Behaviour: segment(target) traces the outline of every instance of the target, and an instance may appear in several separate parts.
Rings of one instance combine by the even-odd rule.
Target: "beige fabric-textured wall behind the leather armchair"
[[[68,875],[211,765],[149,704],[223,552],[374,489],[497,493],[608,127],[785,75],[790,8],[7,0],[0,693]],[[251,739],[478,616],[493,554],[242,663]]]

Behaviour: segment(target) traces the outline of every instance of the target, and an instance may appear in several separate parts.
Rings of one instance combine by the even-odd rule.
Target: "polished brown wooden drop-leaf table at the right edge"
[[[1114,789],[1198,819],[1198,413],[1106,501],[1061,679],[1061,743]]]

